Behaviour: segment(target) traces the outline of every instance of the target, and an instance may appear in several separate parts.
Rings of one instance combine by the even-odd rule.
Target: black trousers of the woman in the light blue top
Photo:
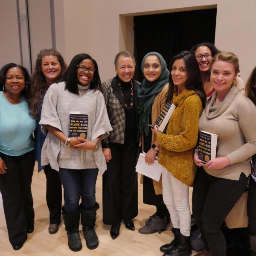
[[[35,219],[31,193],[35,150],[17,157],[0,153],[0,157],[7,167],[6,173],[0,175],[0,191],[9,240],[12,245],[23,244]]]

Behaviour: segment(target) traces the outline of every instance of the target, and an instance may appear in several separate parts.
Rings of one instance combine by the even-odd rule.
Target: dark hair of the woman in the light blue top
[[[28,100],[29,97],[30,97],[30,76],[29,76],[29,71],[25,67],[23,67],[21,65],[18,65],[16,63],[8,63],[8,64],[4,65],[1,68],[1,70],[0,70],[0,91],[3,91],[3,86],[6,83],[6,73],[12,67],[20,68],[22,73],[23,73],[23,76],[24,76],[24,79],[25,79],[26,88],[21,92],[21,94],[26,98],[26,100]]]

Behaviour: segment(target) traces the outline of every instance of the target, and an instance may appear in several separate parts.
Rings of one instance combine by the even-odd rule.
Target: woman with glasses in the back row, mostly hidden
[[[207,99],[209,99],[215,91],[210,83],[210,67],[212,58],[218,53],[218,49],[214,44],[204,42],[194,45],[191,48],[191,52],[195,54],[195,58],[198,61],[201,78],[204,84],[204,91]]]

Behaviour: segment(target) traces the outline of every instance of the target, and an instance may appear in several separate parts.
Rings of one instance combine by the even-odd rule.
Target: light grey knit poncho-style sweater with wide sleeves
[[[44,96],[44,102],[39,124],[42,132],[47,135],[41,152],[42,166],[48,163],[52,169],[88,169],[98,168],[103,174],[107,169],[101,143],[95,150],[79,150],[65,147],[57,137],[48,133],[44,125],[58,128],[66,136],[69,131],[70,112],[88,114],[87,140],[93,141],[100,135],[108,137],[112,130],[108,119],[105,100],[100,91],[87,89],[79,85],[79,95],[65,89],[65,82],[52,84]]]

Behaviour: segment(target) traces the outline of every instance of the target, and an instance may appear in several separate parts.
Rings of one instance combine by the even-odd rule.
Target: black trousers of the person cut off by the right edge
[[[247,215],[249,218],[249,234],[256,236],[256,182],[250,177],[247,201]]]

